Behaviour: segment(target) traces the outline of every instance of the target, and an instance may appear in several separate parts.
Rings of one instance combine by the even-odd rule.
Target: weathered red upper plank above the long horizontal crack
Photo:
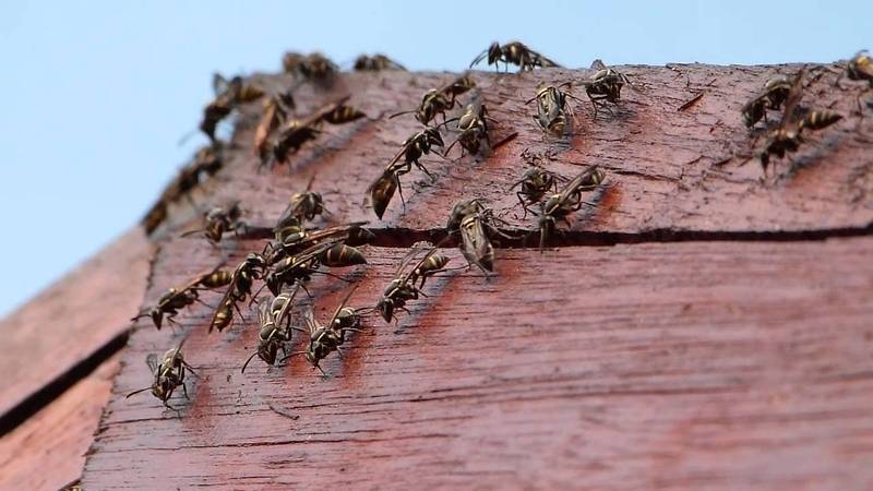
[[[576,122],[564,140],[543,135],[534,124],[534,105],[525,100],[543,82],[582,81],[590,71],[542,70],[521,75],[475,72],[479,89],[463,96],[483,100],[498,121],[493,140],[518,132],[518,137],[488,158],[458,159],[458,148],[449,159],[423,157],[436,176],[430,182],[414,170],[404,177],[405,213],[399,196],[378,220],[364,206],[366,189],[399,149],[402,142],[421,129],[411,116],[388,119],[403,108],[414,108],[422,93],[455,75],[434,73],[348,73],[330,91],[303,85],[296,93],[299,116],[325,101],[350,94],[350,105],[370,119],[326,127],[318,145],[306,146],[291,157],[290,168],[276,167],[258,172],[252,137],[259,105],[244,108],[239,117],[228,165],[219,172],[208,203],[242,200],[247,219],[253,224],[274,221],[292,192],[313,188],[326,193],[331,219],[367,219],[379,227],[432,230],[445,225],[452,205],[463,197],[485,197],[510,227],[530,228],[536,217],[523,219],[510,188],[525,170],[519,154],[557,149],[547,167],[564,176],[576,175],[583,166],[598,164],[612,184],[589,196],[596,208],[574,217],[574,229],[591,233],[687,233],[687,232],[782,232],[870,227],[873,224],[873,153],[870,152],[870,118],[858,113],[861,84],[837,88],[835,65],[811,71],[805,104],[837,110],[845,116],[836,125],[809,134],[809,142],[788,160],[777,163],[775,175],[762,179],[753,158],[763,142],[742,125],[740,108],[777,73],[793,73],[799,65],[713,67],[703,64],[620,67],[645,92],[624,91],[623,103],[613,115],[601,111],[597,119],[590,106],[576,104]],[[256,81],[273,89],[291,85],[287,77],[261,75]],[[704,96],[691,108],[678,111],[683,101],[699,91]],[[584,97],[582,89],[577,95]],[[454,113],[450,113],[453,116]],[[446,142],[454,133],[444,132]],[[730,158],[740,154],[737,158]],[[226,185],[226,182],[232,182]],[[192,228],[200,212],[177,214],[175,232]],[[179,225],[181,224],[181,225]]]

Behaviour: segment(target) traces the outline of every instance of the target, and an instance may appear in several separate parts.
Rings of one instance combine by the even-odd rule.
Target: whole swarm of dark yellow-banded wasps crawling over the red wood
[[[470,68],[482,61],[494,65],[498,71],[501,64],[504,71],[513,64],[519,72],[560,67],[518,41],[492,44],[473,60]],[[339,75],[338,67],[316,52],[286,53],[283,67],[294,77],[318,86],[331,85]],[[354,69],[405,70],[403,65],[382,55],[361,56],[355,60]],[[547,137],[562,139],[572,127],[572,101],[582,101],[572,93],[574,86],[585,91],[595,118],[603,110],[612,113],[612,108],[622,101],[621,94],[625,86],[642,91],[627,75],[599,60],[595,61],[591,69],[590,76],[584,80],[543,83],[526,101],[536,104],[536,113],[531,118]],[[765,172],[770,158],[781,158],[799,148],[803,142],[803,131],[822,130],[841,119],[837,112],[801,105],[804,75],[805,70],[800,70],[793,77],[777,76],[767,81],[763,91],[741,109],[743,123],[753,131],[762,120],[769,123],[772,112],[780,112],[778,124],[766,129],[766,141],[758,154]],[[849,61],[845,75],[850,80],[866,81],[873,87],[873,63],[865,51],[859,52]],[[204,109],[201,123],[201,130],[214,144],[201,151],[194,163],[180,172],[165,192],[165,202],[178,200],[199,182],[201,175],[213,175],[222,167],[220,142],[215,140],[216,125],[240,105],[266,96],[265,91],[247,84],[240,77],[230,81],[216,77],[214,85],[215,100]],[[287,163],[290,155],[318,137],[323,124],[344,124],[367,117],[359,109],[349,106],[350,96],[345,96],[303,118],[297,118],[292,89],[268,95],[263,101],[261,120],[254,135],[254,149],[262,166]],[[462,101],[463,99],[466,100]],[[451,115],[456,108],[459,110]],[[400,179],[414,168],[435,180],[434,175],[422,163],[423,157],[434,154],[447,158],[455,145],[461,147],[462,158],[467,154],[481,156],[517,135],[510,132],[507,136],[492,144],[492,125],[498,123],[500,129],[500,124],[489,116],[469,72],[427,91],[418,107],[395,113],[391,118],[407,113],[411,113],[423,128],[400,144],[399,149],[366,191],[366,197],[379,219],[384,216],[394,194],[400,195],[405,209]],[[444,137],[447,133],[455,133],[456,136],[446,146]],[[515,192],[518,205],[524,211],[524,218],[528,214],[537,216],[536,227],[528,236],[538,232],[539,248],[543,250],[560,223],[569,225],[570,217],[583,206],[596,206],[586,201],[584,195],[603,189],[607,176],[597,165],[581,169],[572,178],[549,170],[548,163],[558,158],[558,152],[553,148],[547,148],[539,154],[526,148],[521,158],[527,164],[527,168],[514,182],[511,191]],[[303,294],[312,298],[307,285],[313,275],[319,274],[349,282],[337,276],[334,270],[367,264],[364,250],[361,248],[372,243],[375,236],[364,227],[366,221],[313,226],[327,209],[322,194],[311,188],[312,181],[304,191],[291,195],[287,207],[271,228],[272,238],[262,250],[249,252],[234,268],[218,266],[195,275],[181,287],[168,289],[154,307],[141,312],[134,320],[151,318],[160,330],[164,321],[176,324],[176,316],[182,309],[194,303],[208,306],[201,299],[204,292],[223,291],[218,302],[211,307],[213,315],[208,323],[210,332],[228,328],[237,315],[244,318],[241,309],[247,307],[247,302],[250,309],[258,306],[258,344],[242,361],[241,371],[255,358],[273,367],[289,357],[303,356],[323,374],[321,361],[333,352],[342,355],[349,334],[362,331],[368,314],[376,314],[385,322],[397,322],[398,312],[408,313],[410,302],[426,297],[423,288],[429,278],[451,271],[447,267],[450,259],[441,254],[440,250],[453,238],[457,238],[461,252],[467,261],[467,265],[463,267],[476,266],[486,275],[494,271],[495,249],[492,241],[518,239],[502,230],[501,226],[505,223],[487,206],[485,199],[461,200],[449,212],[445,237],[435,244],[419,242],[411,246],[375,304],[350,307],[349,301],[357,289],[357,285],[351,285],[326,323],[321,323],[313,314],[311,302],[301,301]],[[144,221],[153,224],[154,228],[154,223],[158,221],[155,217],[160,217],[162,214],[166,215],[166,206],[163,211],[153,208],[148,215],[152,218]],[[227,232],[247,229],[241,219],[242,214],[243,208],[238,202],[213,207],[204,213],[203,228],[186,235],[202,232],[210,242],[217,243]],[[264,289],[268,294],[261,297]],[[306,336],[306,347],[289,352],[294,332]],[[167,351],[162,359],[150,356],[146,362],[153,373],[152,385],[134,391],[129,396],[151,390],[169,408],[171,406],[168,400],[180,385],[187,396],[184,376],[187,372],[194,372],[186,361],[181,348],[180,344]]]

